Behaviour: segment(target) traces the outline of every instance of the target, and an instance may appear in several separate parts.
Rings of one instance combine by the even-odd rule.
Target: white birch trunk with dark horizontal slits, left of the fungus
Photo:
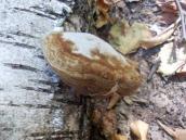
[[[63,9],[57,0],[0,0],[0,140],[81,137],[83,105],[41,50]]]

